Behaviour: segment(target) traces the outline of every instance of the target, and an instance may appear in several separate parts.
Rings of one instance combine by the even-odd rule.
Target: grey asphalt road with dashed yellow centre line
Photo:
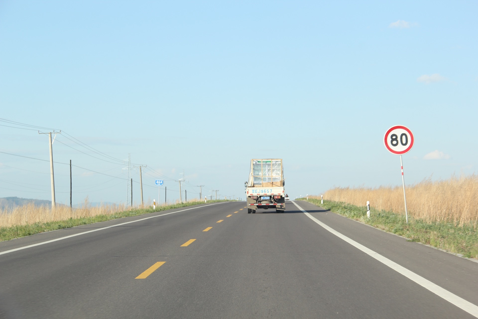
[[[297,204],[478,305],[478,263]],[[174,209],[1,242],[0,318],[475,318],[292,202],[284,214],[247,214],[245,206]]]

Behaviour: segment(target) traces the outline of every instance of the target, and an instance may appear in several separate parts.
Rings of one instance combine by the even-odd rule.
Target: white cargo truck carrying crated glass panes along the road
[[[282,159],[250,160],[249,181],[244,185],[248,214],[255,214],[258,208],[275,208],[277,213],[284,212],[285,192]]]

